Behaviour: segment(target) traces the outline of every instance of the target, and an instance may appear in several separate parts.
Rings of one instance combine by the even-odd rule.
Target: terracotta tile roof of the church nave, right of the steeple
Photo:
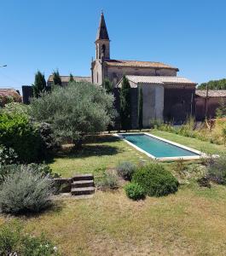
[[[154,61],[122,61],[122,60],[107,60],[108,66],[113,67],[154,67],[154,68],[170,68],[179,71],[177,67],[171,67],[161,62]]]

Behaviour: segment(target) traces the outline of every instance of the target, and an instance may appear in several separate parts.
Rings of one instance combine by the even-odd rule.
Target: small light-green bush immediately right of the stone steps
[[[105,168],[97,169],[95,172],[95,184],[98,189],[119,188],[119,177],[116,172],[106,171]]]

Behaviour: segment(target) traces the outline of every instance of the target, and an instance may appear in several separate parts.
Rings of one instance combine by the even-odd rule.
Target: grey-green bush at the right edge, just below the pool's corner
[[[209,161],[207,177],[213,182],[226,185],[226,154]]]

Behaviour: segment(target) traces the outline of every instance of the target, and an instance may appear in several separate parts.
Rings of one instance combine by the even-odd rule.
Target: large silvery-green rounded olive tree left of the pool
[[[88,82],[55,86],[32,98],[31,108],[34,119],[49,123],[56,137],[77,146],[86,135],[106,131],[114,116],[113,96]]]

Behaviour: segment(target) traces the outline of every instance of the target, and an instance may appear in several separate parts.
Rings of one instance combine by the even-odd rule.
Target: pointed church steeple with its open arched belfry
[[[101,20],[96,34],[96,59],[110,59],[110,40],[107,33],[107,26],[101,12]]]

